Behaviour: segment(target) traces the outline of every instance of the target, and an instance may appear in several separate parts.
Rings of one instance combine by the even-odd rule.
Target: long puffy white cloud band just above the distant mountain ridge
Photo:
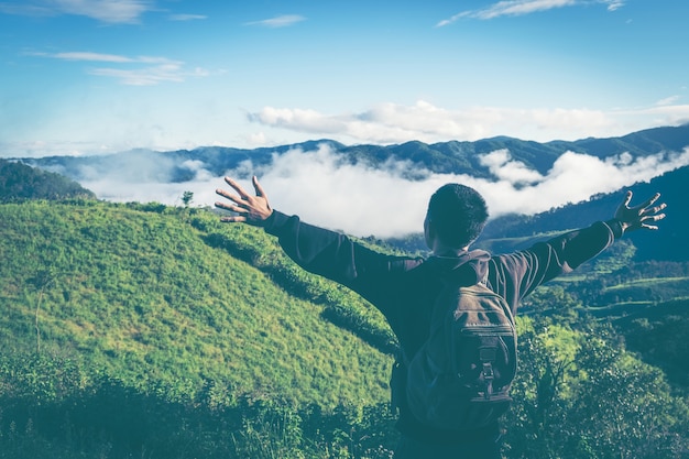
[[[265,107],[248,119],[269,128],[327,135],[341,142],[426,143],[511,135],[547,142],[623,135],[639,129],[674,125],[689,119],[689,106],[633,110],[587,108],[469,107],[447,109],[426,101],[413,106],[380,103],[359,113],[326,114],[311,109]]]

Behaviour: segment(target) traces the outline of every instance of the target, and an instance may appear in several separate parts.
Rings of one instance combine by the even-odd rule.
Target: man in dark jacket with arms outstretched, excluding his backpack
[[[344,234],[273,210],[255,176],[255,196],[232,178],[225,181],[237,194],[218,189],[217,194],[229,203],[219,201],[216,206],[236,215],[223,217],[222,221],[263,227],[278,238],[283,250],[302,267],[370,300],[387,319],[405,356],[414,356],[428,337],[434,302],[442,288],[441,276],[451,273],[452,278],[467,286],[486,278],[486,286],[505,298],[514,314],[520,300],[538,285],[572,271],[625,232],[656,230],[653,223],[665,218],[660,211],[666,207],[654,206],[659,194],[630,207],[632,192],[627,192],[608,221],[538,242],[524,251],[491,255],[469,250],[488,220],[483,197],[470,187],[448,184],[429,200],[424,236],[433,254],[422,259],[381,254]],[[404,383],[404,378],[393,374],[393,402],[400,411],[397,429],[402,434],[395,459],[501,458],[497,422],[463,431],[424,425],[411,413],[406,398],[400,396]]]

